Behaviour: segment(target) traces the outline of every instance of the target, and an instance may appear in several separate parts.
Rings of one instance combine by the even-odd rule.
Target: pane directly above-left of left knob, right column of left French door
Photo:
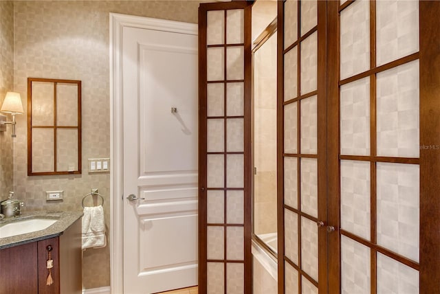
[[[300,163],[301,211],[318,217],[318,160],[301,158]]]

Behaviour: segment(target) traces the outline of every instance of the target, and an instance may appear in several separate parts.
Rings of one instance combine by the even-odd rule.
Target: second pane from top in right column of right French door
[[[419,60],[377,74],[377,155],[419,157]]]

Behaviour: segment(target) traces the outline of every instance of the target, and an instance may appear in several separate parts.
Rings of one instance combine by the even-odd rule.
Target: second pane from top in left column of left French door
[[[284,54],[284,101],[298,97],[298,46]]]

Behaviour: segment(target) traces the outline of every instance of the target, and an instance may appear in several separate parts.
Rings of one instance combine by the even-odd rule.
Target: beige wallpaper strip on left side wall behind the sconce
[[[14,5],[0,1],[0,106],[7,91],[14,87]],[[2,113],[0,113],[1,115]],[[8,120],[11,116],[8,115]],[[0,201],[13,185],[12,128],[0,132]]]

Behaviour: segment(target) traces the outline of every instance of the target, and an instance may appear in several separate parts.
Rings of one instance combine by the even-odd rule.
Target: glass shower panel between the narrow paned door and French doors
[[[277,252],[276,32],[254,49],[254,236]]]

